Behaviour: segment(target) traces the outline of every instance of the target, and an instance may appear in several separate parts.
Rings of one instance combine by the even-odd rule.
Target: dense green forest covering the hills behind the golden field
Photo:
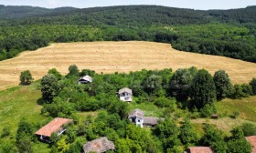
[[[200,11],[157,5],[76,9],[0,6],[0,60],[53,42],[144,40],[256,62],[256,7]]]

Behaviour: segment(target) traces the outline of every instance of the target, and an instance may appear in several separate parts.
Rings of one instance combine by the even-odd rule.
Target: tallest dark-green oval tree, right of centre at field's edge
[[[216,87],[212,76],[205,69],[200,69],[192,81],[190,97],[193,105],[202,108],[216,99]]]

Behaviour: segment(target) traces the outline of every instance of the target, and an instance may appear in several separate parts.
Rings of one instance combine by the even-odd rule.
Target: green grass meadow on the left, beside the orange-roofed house
[[[42,123],[48,120],[48,117],[40,115],[42,106],[37,104],[41,97],[41,91],[37,89],[38,83],[33,83],[27,87],[12,87],[0,91],[0,134],[3,128],[10,129],[10,136],[2,139],[2,142],[15,145],[16,129],[22,117],[25,117],[29,123]],[[0,142],[1,143],[1,142]],[[34,152],[47,153],[50,148],[45,143],[33,143]]]

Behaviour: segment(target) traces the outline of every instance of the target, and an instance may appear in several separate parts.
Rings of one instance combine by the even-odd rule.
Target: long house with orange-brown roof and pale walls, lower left
[[[73,122],[73,119],[56,117],[43,128],[38,129],[35,134],[39,136],[41,140],[50,142],[49,138],[52,133],[56,133],[58,136],[61,135],[66,130],[64,127],[69,125],[71,122]]]

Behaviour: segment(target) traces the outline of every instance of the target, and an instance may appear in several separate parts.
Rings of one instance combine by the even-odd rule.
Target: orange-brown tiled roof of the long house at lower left
[[[42,136],[50,137],[53,132],[57,132],[64,125],[67,125],[72,121],[73,121],[72,119],[56,117],[47,125],[45,125],[43,128],[40,128],[39,130],[37,130],[35,134],[40,136],[42,135]]]

